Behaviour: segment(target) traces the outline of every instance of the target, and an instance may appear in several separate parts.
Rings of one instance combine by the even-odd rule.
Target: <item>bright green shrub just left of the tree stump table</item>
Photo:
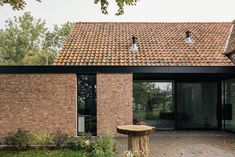
[[[112,135],[99,137],[91,145],[91,157],[114,157],[114,147],[115,141]]]

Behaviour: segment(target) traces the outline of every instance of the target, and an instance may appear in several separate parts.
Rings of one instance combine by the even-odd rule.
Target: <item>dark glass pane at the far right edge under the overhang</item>
[[[225,129],[235,131],[235,79],[225,81]]]

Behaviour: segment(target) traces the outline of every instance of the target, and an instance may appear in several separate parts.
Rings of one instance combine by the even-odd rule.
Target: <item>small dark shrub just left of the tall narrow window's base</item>
[[[66,142],[68,140],[68,134],[62,132],[61,130],[57,130],[52,138],[52,141],[54,142],[56,148],[60,149],[63,146],[65,146]]]

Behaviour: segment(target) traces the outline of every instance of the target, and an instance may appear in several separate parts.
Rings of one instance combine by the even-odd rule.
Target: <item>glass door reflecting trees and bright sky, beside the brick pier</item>
[[[134,123],[155,126],[157,130],[175,128],[173,83],[134,81]]]

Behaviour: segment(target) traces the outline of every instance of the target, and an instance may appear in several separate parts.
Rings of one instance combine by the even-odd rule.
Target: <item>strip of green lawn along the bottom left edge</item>
[[[30,150],[30,151],[3,151],[0,157],[87,157],[79,151],[72,150]]]

